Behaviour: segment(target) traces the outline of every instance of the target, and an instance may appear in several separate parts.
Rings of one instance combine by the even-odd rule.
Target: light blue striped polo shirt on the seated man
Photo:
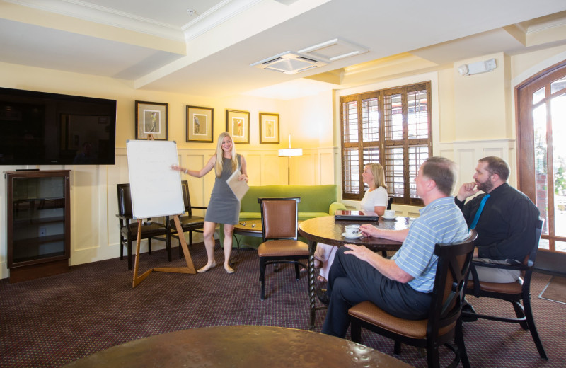
[[[391,257],[413,280],[408,282],[417,292],[431,292],[437,272],[437,243],[456,243],[466,240],[468,226],[454,197],[434,200],[420,209],[420,217],[412,222],[403,246]]]

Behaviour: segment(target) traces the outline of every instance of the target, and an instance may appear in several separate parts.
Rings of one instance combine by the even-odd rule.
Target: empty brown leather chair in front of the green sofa
[[[265,266],[294,263],[296,280],[300,278],[299,260],[308,260],[308,245],[297,240],[300,197],[258,198],[261,209],[263,242],[260,257],[260,299],[265,299]],[[306,265],[302,265],[306,268]]]

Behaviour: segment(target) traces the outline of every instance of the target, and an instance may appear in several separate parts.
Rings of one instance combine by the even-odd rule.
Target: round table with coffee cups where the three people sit
[[[305,220],[299,224],[299,233],[308,239],[308,299],[310,301],[311,323],[310,327],[314,328],[314,319],[316,313],[315,305],[315,272],[314,272],[314,251],[317,243],[325,243],[331,246],[343,246],[344,244],[356,244],[357,246],[366,246],[372,251],[397,251],[401,244],[398,241],[388,240],[384,238],[372,238],[362,236],[360,238],[345,238],[342,233],[345,232],[345,226],[351,224],[372,224],[379,229],[403,230],[410,226],[409,217],[396,217],[393,220],[380,219],[379,222],[369,221],[346,221],[335,220],[334,216],[315,217]],[[325,309],[326,307],[318,308]]]

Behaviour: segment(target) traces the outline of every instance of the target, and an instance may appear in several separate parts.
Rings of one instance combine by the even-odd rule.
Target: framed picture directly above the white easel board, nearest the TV
[[[136,139],[168,139],[168,105],[166,103],[136,101]]]

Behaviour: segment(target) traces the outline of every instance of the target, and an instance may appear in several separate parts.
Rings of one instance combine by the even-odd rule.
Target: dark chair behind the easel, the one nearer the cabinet
[[[120,260],[124,259],[124,248],[127,249],[128,270],[132,270],[132,241],[137,241],[137,220],[132,212],[132,194],[129,183],[117,184],[118,214],[120,219]],[[169,219],[166,217],[166,222]],[[162,236],[165,236],[163,238]],[[148,253],[151,254],[151,240],[165,241],[169,261],[171,261],[171,232],[165,224],[145,219],[141,223],[141,239],[147,239]]]

